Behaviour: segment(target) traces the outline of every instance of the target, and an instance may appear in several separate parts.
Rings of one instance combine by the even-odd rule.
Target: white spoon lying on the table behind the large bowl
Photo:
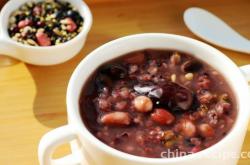
[[[198,37],[217,46],[250,54],[250,41],[212,13],[201,8],[184,12],[184,22]]]

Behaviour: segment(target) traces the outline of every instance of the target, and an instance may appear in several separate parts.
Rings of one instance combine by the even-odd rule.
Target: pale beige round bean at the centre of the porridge
[[[138,112],[149,112],[153,108],[153,102],[147,96],[137,96],[134,99],[134,107]]]

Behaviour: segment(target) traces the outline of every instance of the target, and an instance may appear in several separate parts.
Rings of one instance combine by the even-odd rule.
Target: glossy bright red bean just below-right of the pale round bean
[[[169,125],[175,121],[175,117],[165,109],[156,109],[155,112],[151,114],[151,119],[162,125]]]

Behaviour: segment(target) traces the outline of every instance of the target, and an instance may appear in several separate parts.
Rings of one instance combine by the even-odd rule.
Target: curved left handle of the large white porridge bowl
[[[52,159],[52,154],[62,144],[76,140],[77,135],[70,125],[56,128],[45,134],[38,147],[38,157],[41,165],[80,165],[80,150],[59,159]]]

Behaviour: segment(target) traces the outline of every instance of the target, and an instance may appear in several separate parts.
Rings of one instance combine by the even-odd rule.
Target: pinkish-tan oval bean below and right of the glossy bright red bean
[[[181,121],[181,133],[183,136],[191,138],[196,135],[196,127],[190,120],[184,119]]]

